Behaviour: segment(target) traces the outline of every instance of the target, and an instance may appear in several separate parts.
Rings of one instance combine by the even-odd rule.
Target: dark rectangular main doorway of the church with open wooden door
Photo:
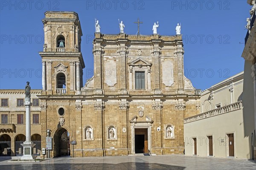
[[[148,129],[135,128],[135,153],[148,153]]]

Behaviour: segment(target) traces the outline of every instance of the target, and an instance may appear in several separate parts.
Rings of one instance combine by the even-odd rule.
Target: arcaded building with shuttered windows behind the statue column
[[[36,144],[34,153],[41,154],[41,108],[38,95],[41,90],[31,91],[31,140]],[[20,156],[26,140],[26,110],[24,90],[0,90],[0,156]]]

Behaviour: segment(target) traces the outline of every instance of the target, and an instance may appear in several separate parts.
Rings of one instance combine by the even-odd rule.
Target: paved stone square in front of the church
[[[7,162],[0,170],[255,170],[247,159],[207,158],[181,155],[61,157],[41,162]]]

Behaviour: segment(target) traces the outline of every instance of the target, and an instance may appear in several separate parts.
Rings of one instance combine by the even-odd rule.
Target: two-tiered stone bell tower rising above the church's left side
[[[68,11],[44,13],[42,90],[45,95],[81,94],[84,60],[78,14]]]

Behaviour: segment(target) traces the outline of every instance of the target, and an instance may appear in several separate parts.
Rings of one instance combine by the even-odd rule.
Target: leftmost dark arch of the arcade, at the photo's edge
[[[3,134],[0,137],[0,156],[11,156],[11,137]]]

